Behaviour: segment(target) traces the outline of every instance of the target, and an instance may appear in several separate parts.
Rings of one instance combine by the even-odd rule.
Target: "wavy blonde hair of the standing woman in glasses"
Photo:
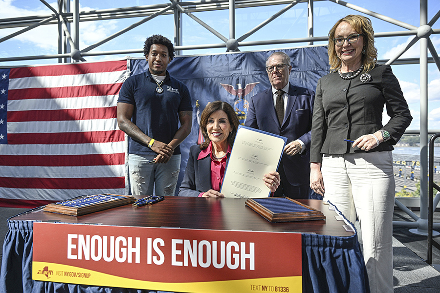
[[[374,47],[374,30],[371,24],[371,20],[362,15],[347,15],[346,17],[337,21],[329,32],[329,63],[330,71],[336,71],[341,66],[341,60],[336,54],[335,44],[333,39],[335,38],[335,31],[341,22],[347,22],[352,26],[352,29],[358,34],[362,35],[364,39],[365,53],[362,53],[362,64],[364,64],[363,72],[368,72],[374,68],[377,62],[377,49]]]

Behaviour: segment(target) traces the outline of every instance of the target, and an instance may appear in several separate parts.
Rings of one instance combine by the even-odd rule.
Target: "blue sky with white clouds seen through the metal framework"
[[[50,5],[56,7],[56,1],[46,0]],[[139,5],[150,5],[154,3],[169,3],[169,0],[125,0],[123,3],[116,0],[80,0],[80,10],[98,10],[117,7],[131,7]],[[382,14],[398,21],[418,27],[419,23],[419,1],[418,0],[346,0],[353,5],[369,9],[375,13]],[[440,10],[439,0],[428,0],[428,21]],[[236,38],[239,38],[253,27],[273,14],[286,7],[283,5],[273,5],[264,7],[252,7],[236,9]],[[0,18],[25,17],[35,15],[51,15],[52,12],[39,0],[0,0]],[[327,36],[331,26],[341,17],[348,14],[361,14],[357,11],[338,5],[331,1],[314,2],[314,36]],[[198,12],[195,15],[206,22],[223,36],[229,37],[229,12],[219,10],[213,12]],[[375,32],[394,32],[405,31],[406,29],[392,23],[370,17],[373,22]],[[80,49],[102,40],[115,32],[139,21],[137,18],[105,20],[105,21],[86,21],[80,23]],[[440,28],[440,20],[437,21],[433,29]],[[0,29],[0,38],[7,36],[22,28]],[[264,28],[254,33],[244,41],[294,39],[307,37],[307,5],[299,3],[290,10],[286,11],[277,20],[270,22]],[[142,48],[145,38],[160,33],[170,39],[174,38],[173,16],[159,16],[148,21],[141,26],[132,29],[130,32],[113,39],[95,51],[112,51],[123,49]],[[414,37],[388,37],[376,38],[375,45],[378,49],[379,60],[390,59],[395,56],[402,47],[405,47]],[[440,54],[440,34],[430,36],[437,54]],[[200,26],[188,16],[183,17],[183,44],[210,44],[221,43],[222,41],[211,32]],[[327,42],[315,42],[315,44],[326,44]],[[241,51],[263,50],[286,48],[290,46],[302,46],[306,43],[264,45],[253,47],[241,47]],[[36,29],[23,33],[13,39],[0,43],[0,58],[15,56],[36,56],[56,54],[57,46],[57,27],[56,25],[44,25]],[[204,49],[184,51],[184,55],[190,54],[213,54],[222,53],[224,48]],[[417,42],[401,58],[418,58],[420,47]],[[88,61],[114,60],[124,55],[96,56],[86,58]],[[142,54],[131,54],[133,57],[141,57]],[[428,56],[431,54],[428,52]],[[55,59],[3,62],[0,65],[23,65],[23,64],[42,64],[56,63]],[[414,120],[408,129],[419,129],[420,126],[420,69],[418,64],[393,65],[393,72],[398,78],[405,98],[410,106]],[[428,65],[428,128],[440,129],[440,72],[435,63]]]

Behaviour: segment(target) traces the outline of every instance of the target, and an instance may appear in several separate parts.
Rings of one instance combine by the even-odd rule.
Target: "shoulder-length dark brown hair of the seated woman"
[[[232,146],[234,144],[235,135],[237,134],[237,129],[240,124],[237,118],[237,113],[231,105],[222,101],[215,101],[206,105],[200,115],[200,130],[202,132],[205,141],[200,145],[200,149],[205,149],[208,147],[211,140],[208,137],[208,131],[206,130],[206,125],[208,124],[208,119],[212,113],[222,110],[228,116],[229,123],[232,127],[232,132],[228,136],[228,144]]]

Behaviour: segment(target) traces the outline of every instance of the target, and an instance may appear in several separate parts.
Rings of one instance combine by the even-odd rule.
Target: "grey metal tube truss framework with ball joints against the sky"
[[[440,70],[440,58],[433,43],[430,40],[430,35],[439,34],[440,29],[432,29],[433,24],[440,18],[440,11],[436,13],[433,19],[428,20],[427,0],[420,0],[420,25],[418,27],[392,19],[390,17],[378,14],[374,11],[350,4],[342,0],[195,0],[195,1],[181,1],[169,0],[166,4],[153,4],[136,7],[114,8],[95,11],[79,11],[79,0],[73,0],[73,7],[70,7],[70,0],[58,0],[58,7],[54,9],[45,0],[40,0],[52,12],[44,16],[30,16],[21,18],[0,19],[0,29],[20,27],[19,31],[10,34],[0,39],[4,42],[14,38],[24,32],[27,32],[40,25],[57,24],[58,25],[58,54],[56,55],[41,55],[41,56],[17,56],[10,58],[0,58],[0,62],[6,61],[22,61],[22,60],[39,60],[39,59],[58,59],[59,63],[86,61],[87,56],[102,56],[114,54],[135,54],[142,53],[142,49],[135,50],[117,50],[117,51],[102,51],[91,52],[92,49],[130,31],[131,29],[152,20],[161,15],[174,15],[175,36],[174,43],[176,54],[182,55],[182,51],[190,49],[209,49],[222,48],[226,51],[239,51],[242,46],[256,46],[269,44],[295,44],[307,42],[312,45],[313,42],[327,41],[327,36],[315,37],[313,35],[313,3],[317,1],[330,1],[336,4],[345,6],[354,11],[364,13],[370,17],[387,21],[402,27],[402,31],[382,32],[376,33],[375,38],[386,38],[396,36],[414,36],[412,41],[402,48],[390,60],[382,60],[379,63],[386,64],[420,64],[420,217],[415,215],[411,210],[407,209],[403,204],[396,200],[396,205],[405,210],[416,222],[394,222],[395,226],[405,226],[417,228],[417,233],[427,234],[427,217],[428,217],[428,134],[440,132],[440,130],[429,131],[428,133],[428,63],[436,63]],[[283,40],[269,40],[269,41],[255,41],[246,42],[245,40],[253,33],[264,27],[269,22],[275,20],[287,10],[298,3],[307,3],[308,5],[308,27],[304,32],[304,38],[283,39]],[[235,10],[247,7],[269,6],[285,4],[286,6],[279,12],[275,13],[267,20],[263,21],[242,36],[235,35]],[[195,12],[213,11],[213,10],[229,10],[229,36],[223,36],[214,28],[198,19]],[[182,45],[182,17],[186,15],[210,31],[212,34],[220,39],[220,43],[213,44],[198,44],[191,46]],[[79,22],[80,21],[99,21],[111,19],[125,19],[125,18],[142,18],[140,21],[134,22],[132,25],[104,38],[103,40],[89,45],[87,48],[79,48]],[[406,52],[416,42],[420,43],[420,58],[419,59],[399,59],[404,52]],[[433,56],[428,58],[428,49]],[[417,134],[414,131],[407,133]],[[438,202],[438,198],[436,197]],[[434,224],[435,229],[440,229],[440,224]]]

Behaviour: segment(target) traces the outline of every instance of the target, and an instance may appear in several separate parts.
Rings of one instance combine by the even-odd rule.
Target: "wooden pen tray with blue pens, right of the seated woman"
[[[324,220],[326,216],[288,197],[248,198],[246,206],[271,223]]]

